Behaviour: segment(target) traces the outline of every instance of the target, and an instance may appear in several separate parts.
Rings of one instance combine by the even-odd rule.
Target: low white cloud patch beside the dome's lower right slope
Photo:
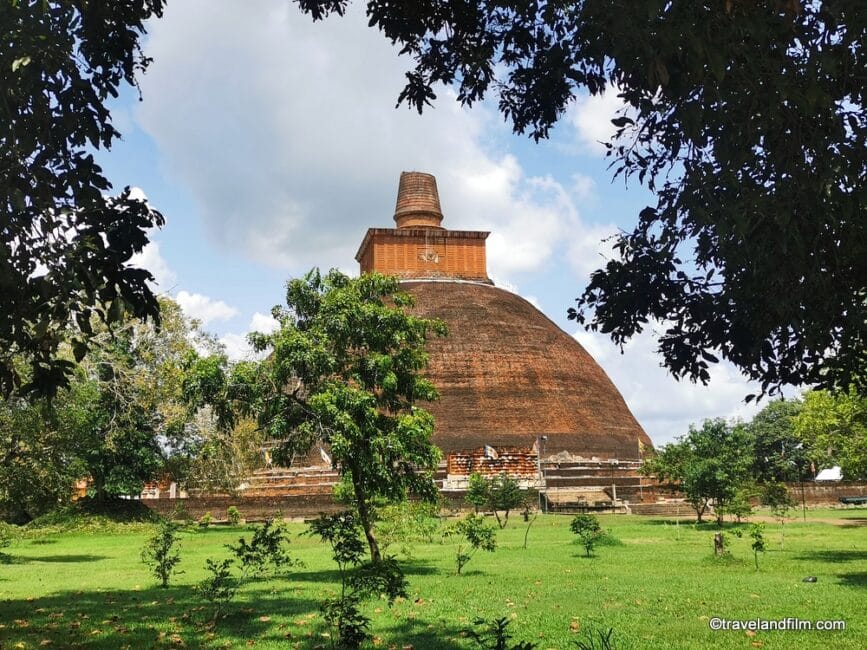
[[[675,380],[661,367],[649,329],[633,337],[623,354],[603,334],[580,330],[574,337],[605,369],[655,445],[685,435],[690,424],[716,417],[748,420],[761,407],[744,403],[756,389],[727,362],[711,366],[707,386]]]

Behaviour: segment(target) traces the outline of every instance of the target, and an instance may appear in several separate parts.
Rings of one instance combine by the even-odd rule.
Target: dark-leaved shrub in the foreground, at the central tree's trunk
[[[383,595],[391,604],[397,597],[406,596],[406,579],[394,558],[363,563],[365,545],[361,533],[358,518],[349,511],[320,515],[310,522],[307,533],[331,546],[340,571],[340,594],[327,599],[321,608],[336,632],[331,637],[332,647],[339,650],[355,650],[370,638],[370,619],[361,612],[362,602]]]

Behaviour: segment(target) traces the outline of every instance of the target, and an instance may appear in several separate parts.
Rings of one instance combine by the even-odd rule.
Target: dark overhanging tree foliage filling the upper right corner
[[[296,0],[314,19],[348,0]],[[867,12],[861,0],[380,2],[412,57],[399,102],[489,92],[536,140],[576,96],[626,109],[615,174],[656,194],[570,312],[623,344],[652,321],[665,365],[722,356],[773,393],[864,387]],[[592,312],[592,315],[591,315]]]

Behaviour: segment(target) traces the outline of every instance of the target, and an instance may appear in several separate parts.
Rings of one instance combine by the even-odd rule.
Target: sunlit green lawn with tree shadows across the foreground
[[[799,513],[800,514],[800,513]],[[523,526],[499,533],[495,553],[479,552],[455,576],[455,545],[419,544],[404,562],[410,598],[367,607],[382,648],[471,648],[464,630],[476,618],[511,620],[516,640],[576,648],[592,630],[614,630],[624,648],[867,648],[867,511],[808,512],[766,524],[768,552],[753,565],[750,539],[729,535],[732,557],[715,560],[712,525],[675,525],[655,517],[603,516],[621,541],[583,557],[569,517],[540,517],[521,548]],[[159,589],[139,559],[152,528],[31,533],[6,549],[0,565],[0,648],[87,646],[330,647],[319,603],[336,587],[326,548],[294,533],[305,567],[288,579],[247,584],[213,630],[192,586],[206,558],[244,528],[185,533],[183,574]],[[746,526],[743,527],[746,529]],[[727,526],[731,533],[734,527]],[[805,583],[805,576],[817,582]],[[844,620],[844,631],[712,631],[726,619]]]

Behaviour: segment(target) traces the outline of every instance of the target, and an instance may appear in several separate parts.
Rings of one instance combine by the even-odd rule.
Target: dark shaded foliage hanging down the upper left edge
[[[150,60],[139,39],[163,0],[0,5],[0,396],[53,395],[93,319],[159,318],[151,274],[129,264],[163,217],[94,162],[120,135],[106,107]],[[71,331],[70,331],[70,328]]]

